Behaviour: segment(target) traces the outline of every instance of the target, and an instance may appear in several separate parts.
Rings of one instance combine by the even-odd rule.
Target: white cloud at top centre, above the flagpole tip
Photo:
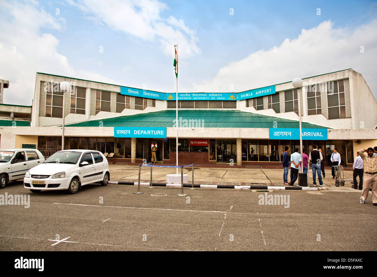
[[[89,14],[88,19],[103,22],[115,31],[144,41],[158,41],[161,51],[168,56],[173,55],[177,43],[182,49],[180,58],[201,53],[195,30],[187,27],[182,19],[160,17],[161,11],[167,9],[164,3],[156,0],[69,0],[68,3]]]

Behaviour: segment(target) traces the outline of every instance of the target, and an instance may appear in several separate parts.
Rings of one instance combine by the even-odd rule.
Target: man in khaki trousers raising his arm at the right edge
[[[377,151],[374,151],[372,147],[369,147],[368,149],[362,149],[358,152],[363,159],[365,173],[360,203],[365,203],[365,200],[368,197],[369,189],[372,188],[373,205],[377,206],[377,155],[373,156],[373,153],[377,153]]]

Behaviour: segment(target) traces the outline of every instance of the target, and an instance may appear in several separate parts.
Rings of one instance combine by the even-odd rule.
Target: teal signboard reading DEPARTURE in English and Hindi
[[[166,127],[114,127],[114,138],[166,138]]]

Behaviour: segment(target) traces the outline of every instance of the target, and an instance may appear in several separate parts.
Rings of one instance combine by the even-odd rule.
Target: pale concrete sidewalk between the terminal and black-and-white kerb
[[[109,165],[111,181],[137,182],[139,167],[136,165]],[[178,174],[180,173],[178,168]],[[191,167],[183,169],[184,174],[189,174],[191,182]],[[176,173],[176,168],[152,167],[153,183],[166,183],[166,174]],[[352,171],[344,172],[345,179],[352,179]],[[312,172],[309,170],[310,177],[308,186],[313,185]],[[349,190],[350,183],[344,186],[336,187],[335,179],[331,176],[331,170],[325,170],[325,178],[322,178],[325,188],[328,190]],[[288,172],[288,181],[290,180],[290,172]],[[141,167],[141,182],[150,182],[150,167]],[[317,185],[318,176],[317,176]],[[285,186],[283,184],[283,169],[263,169],[263,168],[210,168],[195,167],[194,168],[194,184],[205,185],[274,185]],[[295,185],[298,185],[296,181]],[[361,193],[361,192],[360,192]]]

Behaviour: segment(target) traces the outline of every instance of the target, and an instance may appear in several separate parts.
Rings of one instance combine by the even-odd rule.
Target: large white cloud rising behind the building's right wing
[[[377,20],[352,31],[335,29],[333,23],[324,21],[315,28],[302,29],[294,40],[287,38],[280,46],[229,63],[211,80],[193,83],[193,91],[227,92],[234,84],[234,91],[239,92],[352,68],[363,75],[377,98],[376,33]]]

